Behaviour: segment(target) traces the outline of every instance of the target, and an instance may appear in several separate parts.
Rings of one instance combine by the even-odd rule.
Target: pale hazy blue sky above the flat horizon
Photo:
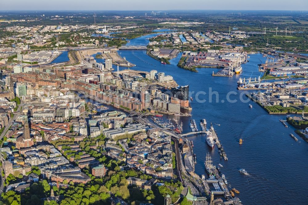
[[[308,0],[1,0],[0,10],[308,10]]]

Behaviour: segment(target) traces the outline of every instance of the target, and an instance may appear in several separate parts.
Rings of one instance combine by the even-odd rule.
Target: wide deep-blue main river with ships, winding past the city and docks
[[[128,45],[146,45],[148,39],[157,34],[150,34],[130,40]],[[221,163],[221,168],[228,180],[228,187],[235,187],[240,191],[238,197],[243,204],[307,204],[308,177],[308,143],[294,133],[295,128],[284,127],[279,119],[286,115],[269,115],[262,107],[252,101],[241,102],[240,95],[244,91],[237,90],[237,80],[241,78],[258,77],[257,64],[265,62],[262,54],[250,55],[249,62],[242,64],[243,73],[233,77],[214,77],[216,68],[200,68],[199,72],[191,72],[177,67],[180,54],[170,60],[170,65],[161,64],[159,61],[146,55],[145,50],[121,50],[129,62],[136,64],[133,70],[157,70],[172,75],[179,85],[189,85],[193,110],[192,119],[199,122],[206,119],[212,122],[214,129],[228,156],[228,161],[220,159],[218,149],[213,150],[206,144],[204,135],[189,136],[193,140],[193,151],[197,155],[196,173],[206,175],[204,161],[206,153],[212,156],[213,164]],[[120,70],[126,69],[120,67]],[[196,94],[200,100],[197,102]],[[210,92],[213,101],[210,102]],[[204,92],[206,94],[204,94]],[[232,92],[232,93],[230,93]],[[228,102],[227,96],[236,102]],[[249,103],[253,108],[249,108]],[[164,119],[173,118],[164,116]],[[190,132],[190,117],[181,117],[183,132]],[[197,123],[198,124],[198,123]],[[220,126],[218,126],[220,124]],[[293,133],[301,143],[290,137]],[[239,139],[243,144],[239,145]],[[238,170],[245,168],[249,175],[241,175]]]

